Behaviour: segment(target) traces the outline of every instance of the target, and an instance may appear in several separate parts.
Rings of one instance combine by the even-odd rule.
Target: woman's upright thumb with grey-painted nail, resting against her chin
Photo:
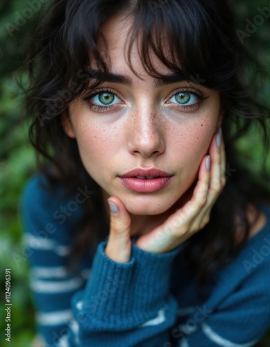
[[[110,234],[105,253],[115,262],[129,262],[131,255],[130,214],[116,196],[108,199],[110,207]]]

